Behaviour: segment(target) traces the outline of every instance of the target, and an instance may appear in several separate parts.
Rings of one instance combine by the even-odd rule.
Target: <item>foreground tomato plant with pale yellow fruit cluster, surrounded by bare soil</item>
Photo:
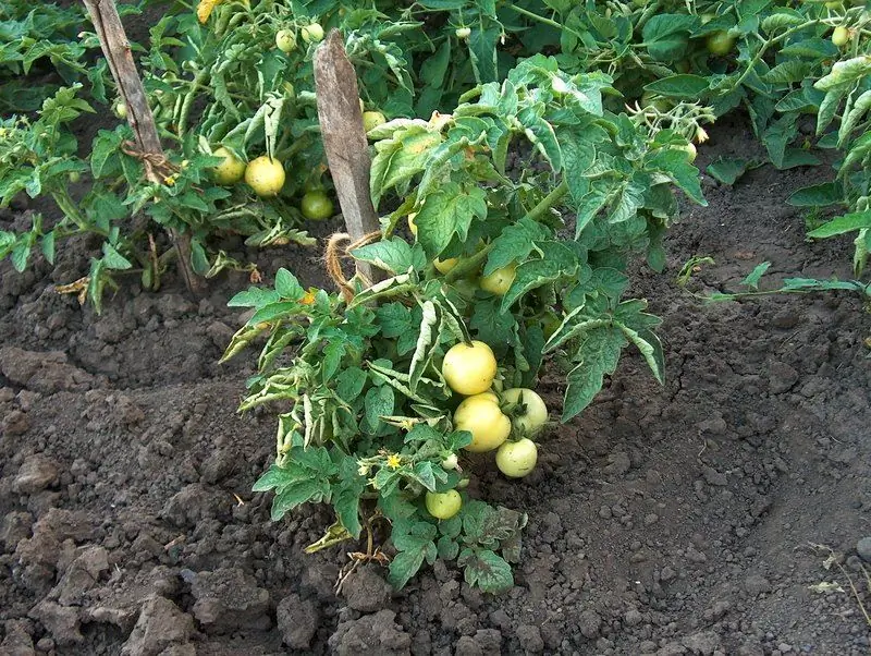
[[[381,241],[352,255],[385,279],[345,300],[280,271],[273,289],[233,299],[255,313],[225,357],[266,338],[241,409],[280,408],[277,460],[256,485],[274,490],[273,518],[329,502],[331,535],[344,538],[387,518],[397,586],[437,557],[486,591],[512,585],[525,518],[477,499],[458,505],[457,455],[493,459],[503,448],[498,462],[515,463],[511,475],[531,466],[524,438],[547,408],[529,388],[545,354],[567,377],[564,420],[591,402],[630,343],[662,378],[659,319],[623,299],[625,269],[639,254],[662,266],[673,185],[704,202],[678,147],[686,139],[609,112],[610,82],[538,56],[451,114],[373,129],[372,197],[391,211]],[[514,170],[512,149],[528,160]],[[394,230],[410,215],[417,233],[406,241]],[[566,226],[571,239],[560,236]],[[438,258],[457,263],[441,272]],[[465,287],[478,270],[510,267],[501,294]],[[548,315],[559,326],[545,338]]]

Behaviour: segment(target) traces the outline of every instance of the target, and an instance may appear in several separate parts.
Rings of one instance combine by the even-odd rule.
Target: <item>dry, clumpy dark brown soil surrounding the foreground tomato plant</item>
[[[714,138],[701,163],[753,147],[741,126]],[[349,549],[302,554],[329,514],[269,521],[270,499],[249,490],[273,420],[235,414],[254,353],[217,364],[244,278],[198,302],[126,283],[96,316],[52,290],[84,275],[94,244],[23,276],[3,264],[0,654],[868,654],[848,583],[871,603],[868,315],[844,294],[690,293],[735,289],[763,259],[775,277],[847,276],[849,241],[805,243],[784,204],[827,174],[707,180],[710,206],[685,208],[667,271],[634,274],[665,317],[666,385],[628,354],[582,417],[542,439],[531,476],[476,471],[471,494],[530,515],[500,598],[443,566],[401,593],[364,568],[336,597]],[[682,289],[694,255],[716,264]],[[257,257],[268,281],[287,266],[327,284],[314,251]],[[557,379],[541,389],[559,410]]]

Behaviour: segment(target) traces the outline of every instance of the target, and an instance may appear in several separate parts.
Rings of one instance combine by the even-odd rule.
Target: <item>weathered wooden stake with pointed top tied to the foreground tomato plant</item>
[[[356,242],[380,231],[381,226],[369,193],[371,160],[357,74],[338,29],[330,32],[315,53],[315,89],[327,163],[351,241]],[[358,262],[357,272],[372,282],[380,279],[368,263]]]

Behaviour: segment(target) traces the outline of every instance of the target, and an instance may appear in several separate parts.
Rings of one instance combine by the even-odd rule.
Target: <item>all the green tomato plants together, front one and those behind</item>
[[[172,144],[175,171],[161,183],[144,182],[124,154],[124,125],[101,131],[78,157],[75,121],[111,95],[105,68],[76,63],[96,46],[83,34],[75,53],[53,56],[72,86],[35,117],[4,119],[0,133],[2,202],[22,191],[49,195],[62,218],[49,229],[37,215],[29,232],[1,233],[0,253],[23,268],[37,245],[51,259],[56,239],[97,232],[102,255],[72,289],[99,308],[112,271],[136,263],[155,289],[167,266],[147,239],[152,228],[126,229],[131,214],[191,232],[194,268],[206,275],[245,266],[210,251],[217,234],[260,246],[308,243],[302,219],[332,214],[310,59],[324,27],[342,28],[359,71],[371,191],[383,215],[382,241],[353,255],[388,279],[359,287],[348,302],[281,271],[274,289],[233,300],[256,312],[228,356],[265,340],[243,410],[270,403],[280,412],[277,461],[257,489],[275,490],[275,519],[304,502],[334,507],[336,524],[312,548],[389,522],[396,585],[441,557],[456,559],[470,583],[504,590],[525,517],[464,502],[464,472],[480,458],[469,453],[492,447],[506,474],[533,461],[530,417],[541,405],[530,388],[545,354],[566,375],[563,420],[589,404],[627,344],[662,377],[658,319],[623,297],[625,270],[639,253],[664,266],[662,236],[677,211],[672,185],[703,202],[691,141],[706,138],[704,122],[744,106],[770,160],[788,168],[815,161],[794,142],[800,116],[817,113],[818,145],[847,155],[835,182],[794,202],[858,210],[817,234],[859,230],[861,274],[866,17],[862,8],[761,0],[691,12],[655,2],[364,10],[204,1],[196,14],[167,14],[139,49],[161,136]],[[522,59],[549,48],[556,57]],[[402,118],[436,108],[453,109],[429,121]],[[507,167],[510,151],[526,166]],[[734,182],[752,166],[728,158],[709,172]],[[70,182],[83,174],[90,185],[75,197]],[[410,234],[397,232],[406,221]],[[479,368],[492,369],[480,391],[452,381],[450,355],[464,348],[467,359],[484,353]]]

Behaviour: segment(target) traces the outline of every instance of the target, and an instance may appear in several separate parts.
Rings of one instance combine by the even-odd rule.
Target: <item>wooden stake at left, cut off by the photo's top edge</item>
[[[165,162],[163,147],[157,134],[155,117],[148,107],[148,99],[142,80],[133,61],[130,41],[118,15],[114,0],[83,0],[100,46],[109,62],[109,70],[118,85],[118,93],[127,108],[127,122],[133,129],[136,148],[143,154],[143,166],[148,180],[162,182],[160,162]],[[188,291],[198,294],[205,290],[205,282],[191,267],[191,236],[171,228],[170,235],[179,253],[179,269]]]

